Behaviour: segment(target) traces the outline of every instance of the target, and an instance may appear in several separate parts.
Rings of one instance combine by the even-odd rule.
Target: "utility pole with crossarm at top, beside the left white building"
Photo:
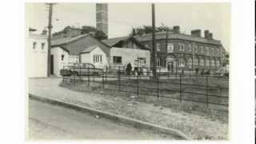
[[[49,19],[48,19],[48,54],[47,54],[47,76],[50,76],[50,49],[51,49],[51,29],[53,28],[52,26],[52,16],[53,16],[53,5],[55,3],[46,3],[46,5],[49,6]]]

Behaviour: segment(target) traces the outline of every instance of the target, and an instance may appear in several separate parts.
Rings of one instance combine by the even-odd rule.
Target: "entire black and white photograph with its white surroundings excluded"
[[[26,139],[228,140],[230,7],[26,2]]]

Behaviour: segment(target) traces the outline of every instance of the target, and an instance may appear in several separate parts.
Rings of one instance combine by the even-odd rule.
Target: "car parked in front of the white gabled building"
[[[60,73],[62,76],[93,76],[102,74],[102,69],[95,68],[91,63],[78,63],[74,66],[64,66]]]

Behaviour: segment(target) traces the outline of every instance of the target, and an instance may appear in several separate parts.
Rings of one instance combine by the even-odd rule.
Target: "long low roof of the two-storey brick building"
[[[166,38],[166,32],[157,32],[155,34],[156,39],[165,39]],[[151,41],[152,39],[152,34],[145,34],[142,36],[134,36],[139,42],[146,42],[146,41]],[[194,41],[194,42],[202,42],[202,43],[209,43],[209,44],[214,44],[214,45],[222,45],[222,43],[218,40],[215,39],[206,39],[206,38],[198,38],[189,34],[180,34],[180,33],[173,33],[170,32],[168,33],[168,39],[169,38],[174,38],[174,39],[184,39],[187,41]]]

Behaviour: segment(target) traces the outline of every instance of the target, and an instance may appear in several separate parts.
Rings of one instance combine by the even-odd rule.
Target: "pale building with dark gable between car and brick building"
[[[109,38],[102,42],[111,46],[110,67],[117,69],[130,63],[133,70],[141,66],[150,67],[150,50],[132,36]]]

